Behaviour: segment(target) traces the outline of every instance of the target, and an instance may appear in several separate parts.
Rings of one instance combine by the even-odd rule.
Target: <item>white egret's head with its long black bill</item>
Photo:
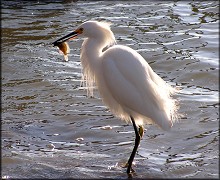
[[[57,41],[53,42],[54,46],[59,45],[65,41],[71,40],[76,38],[77,36],[84,36],[88,38],[113,38],[114,35],[110,30],[110,23],[106,22],[98,22],[98,21],[87,21],[81,24],[76,30],[71,32],[70,34],[58,39]]]

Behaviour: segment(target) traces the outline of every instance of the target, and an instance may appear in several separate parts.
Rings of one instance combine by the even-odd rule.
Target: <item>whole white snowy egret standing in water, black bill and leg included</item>
[[[135,50],[117,45],[110,24],[87,21],[75,31],[53,43],[85,37],[80,59],[88,94],[96,84],[103,102],[119,118],[131,122],[135,145],[127,162],[127,173],[134,172],[132,162],[144,133],[144,124],[157,124],[168,130],[178,118],[175,89],[160,78]]]

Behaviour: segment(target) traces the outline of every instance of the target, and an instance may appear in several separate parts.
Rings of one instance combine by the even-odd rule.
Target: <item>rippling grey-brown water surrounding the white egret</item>
[[[50,45],[90,19],[113,23],[181,92],[185,117],[148,126],[136,178],[219,178],[217,1],[2,1],[2,177],[126,179],[131,125],[80,86],[82,39],[69,62]]]

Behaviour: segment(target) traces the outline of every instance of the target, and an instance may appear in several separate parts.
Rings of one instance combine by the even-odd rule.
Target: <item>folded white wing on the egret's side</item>
[[[136,51],[116,46],[103,57],[103,76],[114,99],[126,109],[152,119],[160,126],[169,121],[159,91],[161,78]],[[158,81],[157,81],[158,80]],[[163,81],[161,81],[163,82]],[[169,124],[170,122],[166,122]]]

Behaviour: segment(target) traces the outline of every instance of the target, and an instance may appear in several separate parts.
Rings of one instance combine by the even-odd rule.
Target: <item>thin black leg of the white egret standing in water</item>
[[[136,137],[135,137],[135,145],[134,145],[134,149],[133,149],[133,151],[132,151],[132,153],[131,153],[131,156],[130,156],[130,158],[129,158],[129,160],[128,160],[128,168],[127,168],[127,174],[130,174],[131,173],[131,170],[132,170],[132,172],[134,172],[134,170],[132,169],[132,162],[133,162],[133,160],[134,160],[134,156],[135,156],[135,154],[136,154],[136,152],[137,152],[137,149],[138,149],[138,146],[139,146],[139,144],[140,144],[140,140],[141,140],[141,137],[142,137],[142,135],[143,135],[143,127],[142,126],[140,126],[139,127],[139,129],[137,128],[137,125],[136,125],[136,123],[135,123],[135,121],[134,121],[134,118],[132,117],[132,116],[130,116],[131,117],[131,121],[132,121],[132,124],[133,124],[133,127],[134,127],[134,131],[135,131],[135,135],[136,135]]]

